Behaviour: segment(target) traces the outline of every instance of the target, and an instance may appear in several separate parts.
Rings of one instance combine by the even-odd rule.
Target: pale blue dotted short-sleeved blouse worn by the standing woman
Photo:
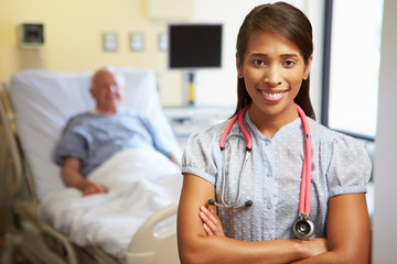
[[[329,198],[366,193],[372,165],[361,142],[308,120],[312,134],[310,219],[315,226],[314,238],[320,238],[326,235]],[[253,138],[253,152],[243,176],[240,202],[253,200],[254,205],[240,210],[219,208],[225,233],[243,241],[294,238],[291,227],[298,217],[304,155],[301,119],[282,127],[271,139],[258,131],[248,112],[244,122]],[[227,123],[192,134],[182,161],[183,173],[200,176],[216,186],[217,202],[221,202],[222,179],[219,139]],[[227,175],[225,201],[233,204],[246,141],[237,123],[227,139],[223,165]]]

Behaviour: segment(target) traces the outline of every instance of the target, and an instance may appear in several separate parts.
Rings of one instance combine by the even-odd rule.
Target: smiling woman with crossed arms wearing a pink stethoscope
[[[193,134],[184,152],[182,263],[369,262],[371,162],[356,140],[313,120],[312,51],[311,24],[294,7],[246,16],[238,118]]]

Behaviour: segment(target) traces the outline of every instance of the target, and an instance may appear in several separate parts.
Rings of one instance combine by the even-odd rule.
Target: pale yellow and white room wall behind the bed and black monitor
[[[264,0],[1,0],[0,1],[0,81],[9,81],[24,68],[84,72],[103,65],[129,65],[155,70],[161,102],[164,106],[183,105],[183,74],[168,70],[168,54],[158,48],[160,33],[171,22],[210,22],[224,24],[223,67],[197,73],[197,102],[203,105],[234,105],[236,70],[235,40],[246,13]],[[270,1],[269,1],[270,2]],[[314,31],[322,30],[324,0],[291,0],[304,10],[313,22]],[[169,4],[165,4],[169,3]],[[150,9],[150,4],[160,10]],[[320,11],[320,12],[319,12]],[[160,12],[160,14],[159,14]],[[44,24],[45,44],[41,48],[20,48],[18,24]],[[118,50],[103,50],[101,34],[116,32]],[[143,33],[143,51],[130,51],[129,34]],[[322,33],[314,34],[322,40]],[[315,52],[321,58],[321,43]],[[319,63],[321,65],[321,63]],[[321,67],[313,69],[312,81],[321,78]],[[315,77],[318,76],[318,77]],[[314,80],[313,80],[314,79]],[[321,82],[319,82],[321,84]],[[216,87],[216,89],[214,89]],[[320,98],[320,85],[313,97]],[[214,95],[214,92],[216,95]],[[207,95],[212,95],[208,98]],[[219,97],[224,100],[218,100]],[[319,102],[319,103],[316,103]],[[320,109],[320,100],[314,100]],[[319,111],[318,111],[319,112]]]

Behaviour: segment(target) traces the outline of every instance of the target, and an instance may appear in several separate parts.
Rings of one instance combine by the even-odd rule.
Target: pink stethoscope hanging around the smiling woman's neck
[[[226,136],[229,133],[233,124],[238,121],[238,125],[243,131],[244,138],[247,141],[246,144],[246,152],[244,162],[242,165],[242,169],[239,173],[239,183],[238,183],[238,193],[237,193],[237,199],[233,204],[226,204],[225,202],[225,170],[222,168],[222,194],[221,194],[221,204],[214,201],[213,199],[210,199],[207,202],[212,206],[217,206],[219,208],[227,208],[232,210],[237,210],[240,208],[247,208],[254,205],[251,200],[247,200],[244,204],[239,204],[240,200],[240,186],[243,184],[243,174],[245,169],[246,162],[248,160],[248,154],[253,150],[253,140],[244,125],[244,116],[247,112],[250,105],[246,106],[242,111],[236,113],[229,121],[229,123],[226,125],[225,131],[223,132],[219,141],[219,147],[221,152],[225,150],[225,141]],[[310,135],[310,128],[308,118],[305,117],[303,110],[296,105],[296,108],[298,110],[299,117],[302,120],[303,124],[303,134],[304,134],[304,160],[303,160],[303,169],[302,169],[302,180],[301,180],[301,189],[300,189],[300,198],[299,198],[299,212],[298,212],[298,219],[294,221],[292,226],[293,234],[301,240],[308,240],[310,239],[314,233],[314,224],[309,219],[310,217],[310,187],[311,187],[311,135]]]

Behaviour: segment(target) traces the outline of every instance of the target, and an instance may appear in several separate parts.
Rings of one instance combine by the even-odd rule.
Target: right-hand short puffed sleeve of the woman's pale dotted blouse
[[[350,136],[339,136],[331,146],[331,163],[328,172],[330,197],[366,193],[372,164],[364,145]]]

